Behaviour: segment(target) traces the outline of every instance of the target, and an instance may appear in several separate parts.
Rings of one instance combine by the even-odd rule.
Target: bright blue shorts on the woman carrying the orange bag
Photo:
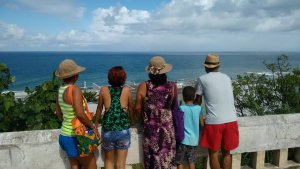
[[[59,135],[59,145],[63,149],[69,158],[78,157],[77,140],[72,136]]]

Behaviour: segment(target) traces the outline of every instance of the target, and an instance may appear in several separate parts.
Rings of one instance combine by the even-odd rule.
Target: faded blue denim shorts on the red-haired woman
[[[101,135],[101,148],[104,151],[128,149],[131,144],[131,135],[129,129],[122,131],[104,131]]]

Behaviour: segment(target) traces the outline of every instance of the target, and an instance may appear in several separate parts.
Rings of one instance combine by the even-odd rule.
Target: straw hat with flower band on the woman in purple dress
[[[172,70],[172,65],[166,63],[161,56],[154,56],[151,58],[149,65],[146,67],[146,72],[150,74],[164,74]]]

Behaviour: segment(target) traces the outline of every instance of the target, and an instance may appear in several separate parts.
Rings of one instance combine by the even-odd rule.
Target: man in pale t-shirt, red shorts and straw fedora
[[[207,74],[197,79],[195,103],[204,96],[206,117],[200,145],[209,150],[210,167],[220,169],[219,150],[222,150],[223,169],[231,168],[230,150],[239,145],[237,115],[234,107],[231,79],[219,72],[218,55],[208,54],[204,63]]]

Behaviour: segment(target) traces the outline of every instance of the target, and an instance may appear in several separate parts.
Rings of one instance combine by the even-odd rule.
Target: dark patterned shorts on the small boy
[[[196,163],[199,159],[200,148],[198,146],[188,146],[179,144],[176,148],[176,163]]]

